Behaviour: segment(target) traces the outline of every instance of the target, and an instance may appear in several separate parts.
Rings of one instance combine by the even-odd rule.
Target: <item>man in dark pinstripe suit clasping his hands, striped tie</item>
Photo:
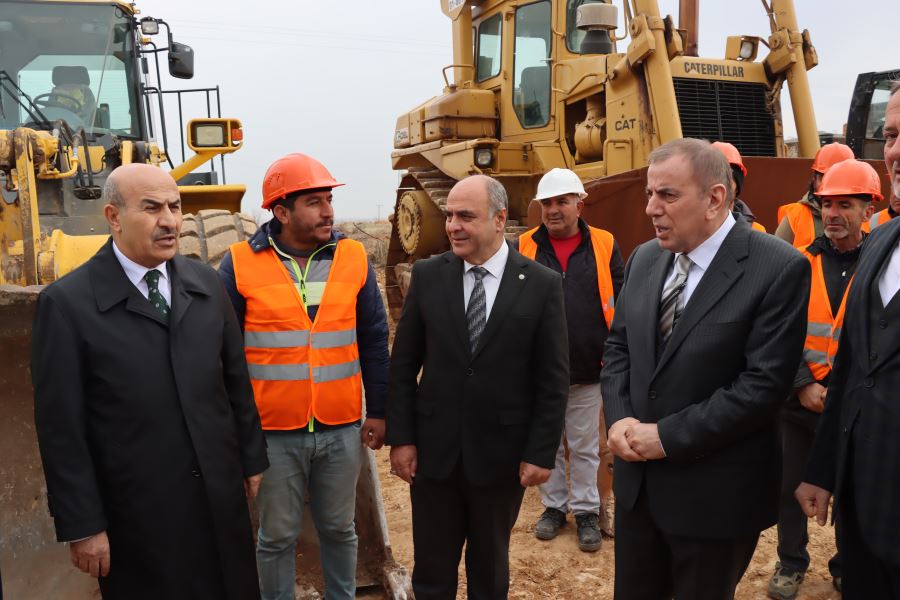
[[[669,142],[649,163],[657,239],[628,261],[601,372],[615,597],[724,600],[776,521],[776,417],[800,362],[810,268],[735,221],[730,168],[707,142]]]

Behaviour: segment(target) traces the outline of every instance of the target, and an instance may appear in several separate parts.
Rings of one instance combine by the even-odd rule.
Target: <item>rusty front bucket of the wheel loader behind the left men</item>
[[[31,386],[31,324],[41,286],[0,285],[0,564],[6,598],[94,600],[97,582],[76,570],[65,544],[56,541],[47,510],[46,486],[34,428]],[[360,598],[412,598],[409,575],[393,558],[374,453],[357,484],[359,535],[357,590]],[[297,545],[299,597],[324,590],[318,538],[306,523]]]

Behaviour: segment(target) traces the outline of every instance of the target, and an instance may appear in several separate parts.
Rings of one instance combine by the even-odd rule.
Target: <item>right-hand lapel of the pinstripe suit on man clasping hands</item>
[[[672,331],[672,337],[666,344],[666,348],[656,365],[654,376],[659,373],[691,330],[706,316],[706,313],[743,276],[744,267],[741,261],[748,254],[747,241],[749,231],[748,227],[742,227],[739,223],[735,223],[722,241],[719,251],[716,252],[715,258],[713,258],[709,268],[703,274],[703,278],[696,289],[694,289],[694,293],[691,294],[684,312],[679,317],[678,323]]]

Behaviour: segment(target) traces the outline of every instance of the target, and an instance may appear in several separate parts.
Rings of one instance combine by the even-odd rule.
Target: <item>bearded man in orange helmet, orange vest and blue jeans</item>
[[[294,598],[307,492],[325,594],[355,597],[356,481],[363,444],[383,444],[388,329],[365,248],[333,231],[340,185],[304,154],[275,161],[262,204],[274,218],[219,267],[244,329],[271,463],[257,499],[263,600]]]

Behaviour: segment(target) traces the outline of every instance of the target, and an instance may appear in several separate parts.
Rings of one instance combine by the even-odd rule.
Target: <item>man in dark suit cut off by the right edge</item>
[[[900,84],[884,120],[884,160],[900,195]],[[824,525],[834,493],[846,600],[900,598],[900,221],[866,240],[847,297],[825,412],[797,499]]]

